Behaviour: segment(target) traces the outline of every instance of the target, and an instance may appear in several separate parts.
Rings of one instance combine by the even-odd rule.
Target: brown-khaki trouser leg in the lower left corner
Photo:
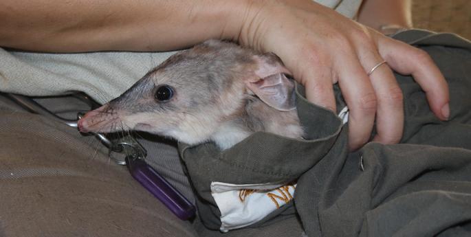
[[[0,236],[196,234],[94,138],[0,108]]]

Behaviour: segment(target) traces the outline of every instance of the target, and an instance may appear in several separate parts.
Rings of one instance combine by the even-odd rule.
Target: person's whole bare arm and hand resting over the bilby
[[[450,113],[448,85],[428,54],[311,0],[3,0],[0,22],[1,46],[39,52],[162,51],[209,38],[274,52],[314,104],[335,111],[339,84],[350,109],[351,150],[368,142],[375,121],[373,140],[402,137],[402,91],[391,69],[415,78],[439,119]],[[383,60],[389,67],[366,75]]]

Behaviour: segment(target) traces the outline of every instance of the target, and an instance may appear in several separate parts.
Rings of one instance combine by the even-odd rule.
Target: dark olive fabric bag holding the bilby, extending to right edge
[[[179,144],[201,223],[208,229],[230,229],[221,223],[225,214],[215,200],[215,182],[239,188],[294,182],[295,205],[286,192],[287,204],[250,227],[296,213],[308,236],[470,234],[471,43],[452,34],[417,30],[395,37],[426,50],[446,76],[450,121],[433,115],[412,77],[395,74],[404,93],[402,144],[369,143],[348,153],[348,126],[336,114],[307,102],[298,86],[305,140],[255,133],[223,151],[211,143]],[[342,109],[343,100],[337,96]],[[243,202],[245,196],[239,197]]]

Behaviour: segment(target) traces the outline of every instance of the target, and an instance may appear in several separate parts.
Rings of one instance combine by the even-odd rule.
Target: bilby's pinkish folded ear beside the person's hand
[[[285,74],[274,74],[256,82],[246,82],[248,89],[257,95],[265,104],[278,111],[296,109],[294,82]]]

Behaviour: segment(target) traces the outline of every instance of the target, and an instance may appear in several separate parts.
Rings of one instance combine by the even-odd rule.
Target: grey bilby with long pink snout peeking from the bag
[[[303,137],[294,81],[278,56],[206,41],[168,58],[118,98],[88,112],[82,132],[146,131],[230,148],[258,131]]]

